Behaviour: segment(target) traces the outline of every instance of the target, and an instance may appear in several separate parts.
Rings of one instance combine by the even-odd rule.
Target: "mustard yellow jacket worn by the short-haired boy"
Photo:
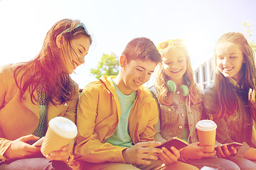
[[[121,108],[114,84],[114,77],[102,77],[88,84],[78,102],[78,137],[74,147],[75,159],[85,162],[122,162],[125,147],[105,143],[114,134],[119,123]],[[132,142],[154,141],[154,125],[158,110],[148,88],[137,90],[128,128]]]

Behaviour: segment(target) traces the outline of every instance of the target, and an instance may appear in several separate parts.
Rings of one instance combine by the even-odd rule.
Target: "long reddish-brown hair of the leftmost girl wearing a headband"
[[[21,91],[21,97],[28,90],[33,102],[33,99],[36,100],[34,96],[36,87],[39,84],[43,84],[49,101],[54,105],[70,101],[72,95],[75,94],[76,83],[70,78],[68,73],[63,72],[56,38],[64,30],[70,28],[70,31],[63,33],[63,37],[68,42],[67,46],[63,47],[62,43],[62,49],[67,50],[68,54],[70,52],[75,54],[70,41],[78,34],[86,35],[90,39],[91,44],[92,38],[87,31],[82,27],[75,28],[79,23],[80,21],[78,20],[72,21],[70,19],[63,19],[55,23],[46,34],[39,55],[29,62],[24,62],[14,70],[14,78],[18,89]],[[71,58],[70,55],[65,57]],[[53,98],[55,101],[53,101]]]

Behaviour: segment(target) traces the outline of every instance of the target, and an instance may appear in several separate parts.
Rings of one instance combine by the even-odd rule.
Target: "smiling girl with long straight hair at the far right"
[[[250,161],[256,160],[254,52],[241,33],[225,33],[216,43],[215,62],[215,82],[203,96],[204,113],[218,126],[218,142],[242,143],[239,149],[218,146],[217,156],[240,169],[256,169]]]

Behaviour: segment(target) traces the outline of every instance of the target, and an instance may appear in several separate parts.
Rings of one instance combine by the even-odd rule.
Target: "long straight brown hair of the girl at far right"
[[[245,63],[242,64],[242,79],[240,79],[238,84],[242,87],[242,90],[247,93],[250,89],[255,89],[255,55],[245,36],[242,35],[242,33],[225,33],[222,35],[215,45],[215,63],[217,63],[216,47],[220,42],[232,42],[235,45],[239,45]],[[215,118],[218,119],[224,118],[227,115],[235,115],[235,111],[238,109],[238,101],[235,98],[233,88],[231,88],[228,78],[224,77],[217,67],[215,87],[217,89],[217,112]],[[253,116],[255,117],[255,115]]]

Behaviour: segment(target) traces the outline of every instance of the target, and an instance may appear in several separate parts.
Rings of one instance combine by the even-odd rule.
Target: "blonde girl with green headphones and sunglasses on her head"
[[[159,106],[156,141],[164,142],[179,137],[191,143],[181,149],[180,161],[201,169],[239,169],[227,159],[206,153],[196,135],[196,123],[201,120],[203,95],[193,80],[193,69],[183,40],[167,40],[158,45],[162,62],[156,67],[156,82],[151,92]]]

